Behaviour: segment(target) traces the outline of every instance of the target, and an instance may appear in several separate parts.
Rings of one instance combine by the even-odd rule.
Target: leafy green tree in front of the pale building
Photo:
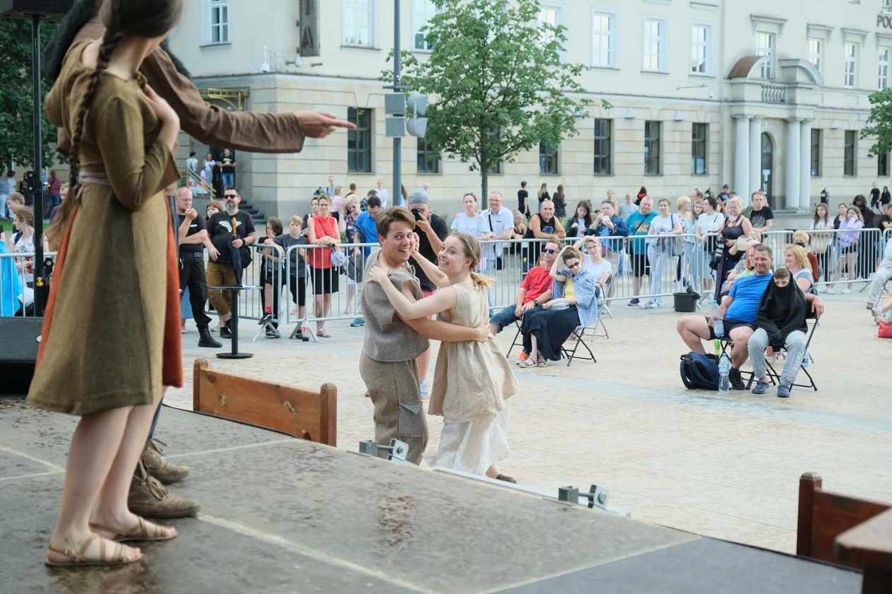
[[[424,60],[402,53],[401,83],[431,95],[425,140],[480,172],[485,204],[500,162],[578,134],[574,117],[591,105],[577,82],[585,67],[562,61],[566,28],[537,23],[539,0],[434,4],[438,12],[423,28],[433,53]]]

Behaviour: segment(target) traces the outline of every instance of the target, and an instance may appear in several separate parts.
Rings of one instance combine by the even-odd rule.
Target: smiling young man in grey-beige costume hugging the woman
[[[381,266],[410,301],[420,299],[421,286],[409,265],[412,243],[417,245],[418,240],[415,217],[405,207],[391,207],[379,214],[375,223],[381,248],[368,256],[365,277],[373,266]],[[467,328],[426,318],[406,321],[393,309],[381,285],[364,282],[363,287],[360,300],[366,327],[359,373],[375,404],[375,440],[389,445],[395,437],[407,443],[406,460],[418,464],[427,446],[427,422],[418,387],[417,356],[427,350],[428,338],[484,342],[491,336],[489,324]]]

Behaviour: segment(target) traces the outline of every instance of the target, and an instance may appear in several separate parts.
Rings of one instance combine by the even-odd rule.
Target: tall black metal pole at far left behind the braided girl
[[[31,82],[34,114],[34,175],[37,191],[34,194],[34,313],[44,314],[44,178],[43,134],[40,130],[43,114],[40,96],[40,17],[31,15]]]

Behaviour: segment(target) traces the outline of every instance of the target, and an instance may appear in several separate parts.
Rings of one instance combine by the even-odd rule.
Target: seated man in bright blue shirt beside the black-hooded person
[[[740,367],[747,362],[747,342],[756,330],[756,316],[759,312],[759,302],[765,288],[772,280],[772,248],[764,244],[758,244],[753,248],[753,256],[750,257],[754,274],[742,276],[731,286],[731,292],[722,298],[722,305],[714,317],[699,315],[685,315],[675,324],[681,340],[695,353],[706,354],[703,348],[703,340],[715,340],[713,324],[716,318],[723,321],[724,336],[731,338],[731,388],[745,390],[743,378],[740,377]],[[823,313],[823,304],[819,297],[805,296],[806,302],[812,305],[812,310],[820,316]]]

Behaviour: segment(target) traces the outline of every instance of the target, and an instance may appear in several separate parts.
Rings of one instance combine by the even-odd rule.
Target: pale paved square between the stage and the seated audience
[[[810,368],[820,389],[794,388],[786,400],[774,388],[762,396],[686,391],[678,370],[686,349],[675,332],[681,314],[631,312],[615,302],[616,317],[606,321],[610,338],[593,342],[597,363],[515,368],[520,392],[511,411],[511,456],[500,469],[555,492],[566,484],[599,484],[636,519],[789,552],[796,549],[804,472],[819,473],[827,489],[892,501],[892,342],[876,338],[863,294],[824,299]],[[355,449],[373,436],[372,404],[357,366],[361,328],[329,322],[332,338],[318,344],[251,342],[257,328],[254,321],[242,325],[242,350],[254,357],[226,361],[195,346],[190,321],[183,337],[187,384],[170,390],[166,402],[191,409],[192,365],[204,356],[214,369],[293,386],[332,382],[338,447]],[[513,336],[514,330],[498,336],[503,352]],[[442,420],[428,420],[428,447],[435,448]]]

